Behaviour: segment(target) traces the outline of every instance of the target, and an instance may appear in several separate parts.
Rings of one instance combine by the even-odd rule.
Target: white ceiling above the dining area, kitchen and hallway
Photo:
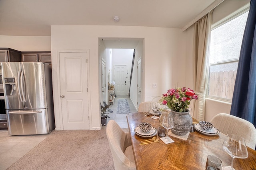
[[[50,36],[50,25],[124,25],[182,29],[215,0],[0,0],[0,35]],[[114,16],[120,19],[114,21]],[[107,42],[111,42],[108,45]],[[107,48],[138,40],[105,39]],[[118,43],[118,45],[114,45]],[[120,45],[120,43],[123,43]]]

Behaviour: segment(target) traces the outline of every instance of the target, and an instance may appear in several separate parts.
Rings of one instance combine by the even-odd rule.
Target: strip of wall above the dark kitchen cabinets
[[[51,51],[51,37],[0,35],[0,47],[18,51]]]

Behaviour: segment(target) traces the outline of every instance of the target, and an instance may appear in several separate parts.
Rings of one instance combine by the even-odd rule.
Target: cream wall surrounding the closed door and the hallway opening
[[[100,127],[99,97],[99,37],[144,38],[144,96],[150,101],[152,96],[159,96],[178,82],[185,84],[186,68],[184,33],[180,29],[134,26],[51,26],[52,76],[54,89],[54,111],[56,129],[63,129],[60,119],[61,103],[58,80],[57,53],[60,50],[88,49],[90,67],[90,96],[92,118],[90,129]],[[178,62],[178,63],[177,63]],[[180,64],[181,63],[181,64]],[[180,68],[182,66],[183,68]],[[152,89],[152,83],[158,87]]]

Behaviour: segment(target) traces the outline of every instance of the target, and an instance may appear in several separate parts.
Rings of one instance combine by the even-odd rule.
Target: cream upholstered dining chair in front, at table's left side
[[[129,132],[124,132],[114,120],[106,127],[108,143],[116,170],[136,170]]]

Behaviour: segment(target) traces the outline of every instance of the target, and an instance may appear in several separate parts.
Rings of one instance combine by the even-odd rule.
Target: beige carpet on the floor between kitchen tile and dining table
[[[52,131],[8,170],[114,170],[106,129]]]

